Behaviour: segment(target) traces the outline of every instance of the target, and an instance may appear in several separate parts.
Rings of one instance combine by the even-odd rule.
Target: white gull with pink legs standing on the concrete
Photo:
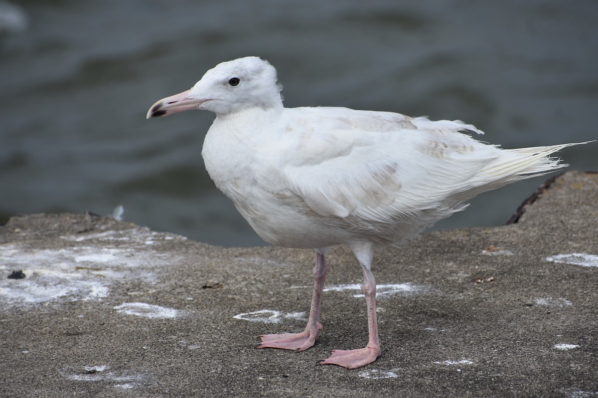
[[[499,149],[430,121],[340,107],[285,108],[276,69],[258,57],[218,64],[193,88],[155,103],[147,117],[216,113],[203,143],[206,169],[255,232],[273,245],[315,248],[305,331],[261,336],[258,348],[303,351],[315,343],[330,246],[352,249],[364,273],[365,348],[334,350],[321,364],[359,368],[380,356],[374,248],[413,239],[465,208],[465,200],[566,165],[551,153],[575,144]]]

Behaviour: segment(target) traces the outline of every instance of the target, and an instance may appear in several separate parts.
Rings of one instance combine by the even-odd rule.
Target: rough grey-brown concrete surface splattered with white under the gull
[[[0,227],[0,397],[598,397],[597,198],[597,174],[569,172],[515,224],[378,252],[382,357],[352,371],[316,365],[367,340],[347,248],[327,257],[316,345],[256,350],[260,334],[304,327],[312,251],[13,217]]]

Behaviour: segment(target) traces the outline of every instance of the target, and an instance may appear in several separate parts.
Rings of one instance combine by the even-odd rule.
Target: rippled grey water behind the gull
[[[206,174],[200,152],[213,115],[145,119],[154,101],[245,55],[278,69],[288,107],[462,119],[507,148],[598,138],[593,0],[10,5],[16,23],[0,16],[4,220],[123,205],[124,220],[155,230],[263,244]],[[561,156],[596,170],[597,153],[588,144]],[[504,224],[545,178],[486,193],[437,227]]]

